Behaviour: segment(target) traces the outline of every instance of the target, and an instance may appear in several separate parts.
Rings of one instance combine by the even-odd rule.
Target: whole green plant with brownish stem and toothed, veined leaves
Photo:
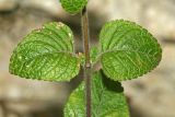
[[[18,45],[10,59],[10,73],[35,80],[71,81],[84,70],[83,81],[72,91],[65,117],[129,117],[121,81],[153,70],[162,58],[158,40],[140,25],[125,20],[102,27],[98,47],[90,47],[88,0],[60,0],[70,14],[81,12],[84,52],[74,52],[73,34],[61,22],[46,23]],[[100,66],[100,70],[93,69]]]

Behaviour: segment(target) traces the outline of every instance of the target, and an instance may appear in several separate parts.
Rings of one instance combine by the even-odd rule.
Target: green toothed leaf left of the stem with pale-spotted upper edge
[[[70,81],[79,73],[73,34],[62,23],[47,23],[28,34],[14,49],[10,72],[27,79]]]

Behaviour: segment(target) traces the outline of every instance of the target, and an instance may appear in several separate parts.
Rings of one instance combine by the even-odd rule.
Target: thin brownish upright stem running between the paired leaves
[[[91,61],[90,61],[90,32],[89,32],[89,16],[86,8],[82,10],[82,34],[84,44],[85,66],[85,96],[86,96],[86,117],[91,117]]]

